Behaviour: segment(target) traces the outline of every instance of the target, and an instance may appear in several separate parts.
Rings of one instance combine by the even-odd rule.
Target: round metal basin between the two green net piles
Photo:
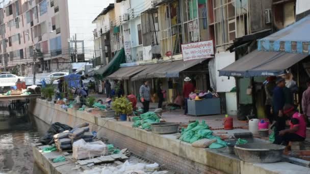
[[[152,123],[151,131],[156,134],[176,133],[178,131],[178,126],[178,123],[171,122]]]

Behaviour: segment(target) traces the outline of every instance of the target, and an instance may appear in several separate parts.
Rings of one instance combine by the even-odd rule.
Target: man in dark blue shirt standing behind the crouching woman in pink
[[[285,94],[283,92],[283,88],[285,88],[285,79],[278,77],[272,96],[272,112],[274,115],[274,120],[276,121],[276,135],[279,131],[284,130],[286,126],[286,118],[283,115],[283,106],[285,105]]]

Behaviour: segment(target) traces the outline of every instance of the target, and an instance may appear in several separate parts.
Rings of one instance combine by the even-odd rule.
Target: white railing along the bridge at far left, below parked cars
[[[16,81],[20,79],[20,81],[26,82],[26,85],[33,85],[33,77],[11,77],[11,78],[0,78],[0,87],[5,86],[15,86]],[[36,77],[36,85],[41,85],[41,81],[45,80],[46,83],[50,83],[53,77]],[[55,78],[55,77],[54,77]],[[88,78],[85,80],[82,80],[83,83],[88,83],[89,80],[95,81],[94,78]],[[58,81],[55,80],[53,84],[58,84]]]

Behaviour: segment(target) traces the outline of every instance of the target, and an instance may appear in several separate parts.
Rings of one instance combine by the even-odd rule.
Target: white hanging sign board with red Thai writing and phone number
[[[183,61],[211,58],[214,55],[213,41],[194,42],[182,45]]]

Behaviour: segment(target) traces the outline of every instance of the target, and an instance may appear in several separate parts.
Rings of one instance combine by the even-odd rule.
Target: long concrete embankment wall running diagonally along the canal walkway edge
[[[252,164],[239,160],[223,150],[199,149],[181,142],[175,135],[158,135],[138,128],[130,122],[117,122],[100,118],[83,111],[68,109],[45,100],[36,99],[30,104],[30,112],[47,124],[61,122],[71,127],[89,123],[91,131],[104,136],[119,148],[129,148],[146,159],[165,164],[178,173],[310,173],[310,169],[287,162]]]

